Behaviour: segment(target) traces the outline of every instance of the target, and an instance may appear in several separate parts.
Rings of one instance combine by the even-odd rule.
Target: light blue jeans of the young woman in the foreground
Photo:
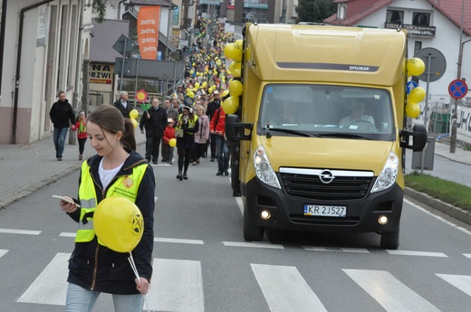
[[[65,312],[91,312],[101,292],[69,283]],[[112,295],[115,312],[141,312],[144,306],[142,295]]]

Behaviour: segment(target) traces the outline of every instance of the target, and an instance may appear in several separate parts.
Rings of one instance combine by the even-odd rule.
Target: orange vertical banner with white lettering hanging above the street
[[[138,13],[138,44],[140,57],[157,59],[159,46],[160,6],[141,6]]]

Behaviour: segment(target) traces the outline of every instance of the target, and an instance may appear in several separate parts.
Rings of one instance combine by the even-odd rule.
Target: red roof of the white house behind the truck
[[[464,25],[463,31],[467,35],[471,35],[471,3],[459,0],[423,0],[429,5],[437,9],[438,12],[445,15],[457,27],[461,27],[462,5],[465,3]],[[386,5],[394,4],[394,0],[334,0],[334,3],[346,3],[348,9],[345,19],[337,19],[337,14],[333,14],[323,22],[327,24],[351,26],[359,23],[362,19],[370,14],[375,13]]]

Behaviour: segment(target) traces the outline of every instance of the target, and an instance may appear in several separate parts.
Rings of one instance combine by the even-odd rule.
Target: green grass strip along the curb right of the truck
[[[471,188],[466,185],[418,172],[404,175],[404,179],[411,189],[471,212]]]

